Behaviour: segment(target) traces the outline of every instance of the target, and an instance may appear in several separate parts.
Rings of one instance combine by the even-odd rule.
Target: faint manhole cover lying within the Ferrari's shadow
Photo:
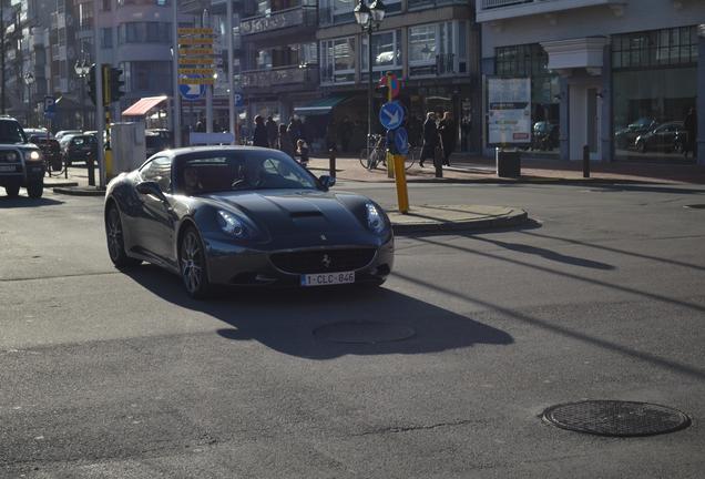
[[[314,330],[314,336],[334,343],[375,344],[402,340],[416,332],[406,326],[377,322],[334,323]]]

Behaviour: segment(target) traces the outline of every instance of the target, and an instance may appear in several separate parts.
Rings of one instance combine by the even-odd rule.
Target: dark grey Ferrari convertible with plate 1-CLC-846
[[[389,218],[334,183],[276,150],[163,151],[108,185],[110,258],[180,274],[194,297],[216,284],[380,285],[394,264]]]

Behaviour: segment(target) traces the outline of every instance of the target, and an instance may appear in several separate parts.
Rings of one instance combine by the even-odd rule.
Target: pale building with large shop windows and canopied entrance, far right
[[[531,78],[534,133],[558,133],[534,154],[580,160],[588,145],[593,161],[694,162],[680,132],[695,108],[705,163],[705,2],[478,0],[476,8],[482,73]]]

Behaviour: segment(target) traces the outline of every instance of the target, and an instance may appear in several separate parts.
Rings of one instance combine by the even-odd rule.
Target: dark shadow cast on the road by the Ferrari
[[[425,354],[513,343],[505,332],[384,287],[225,289],[212,299],[195,300],[186,295],[177,276],[154,266],[136,267],[129,276],[175,305],[227,324],[217,330],[225,339],[254,339],[303,358]],[[317,334],[321,328],[329,332],[330,325],[339,325],[341,336],[352,330],[355,338],[361,335],[366,340],[338,343]],[[380,326],[384,332],[375,343]],[[396,333],[398,340],[386,340]],[[407,333],[412,335],[406,337]]]

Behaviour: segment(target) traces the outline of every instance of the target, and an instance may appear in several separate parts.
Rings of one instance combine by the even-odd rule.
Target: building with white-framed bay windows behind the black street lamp
[[[348,150],[361,147],[367,132],[368,35],[355,21],[355,7],[351,0],[320,0],[323,99],[294,109],[329,116],[338,145],[345,143]],[[372,34],[372,80],[377,83],[388,71],[403,79],[399,101],[408,111],[410,142],[420,142],[427,112],[449,111],[458,126],[459,149],[478,149],[480,129],[473,119],[481,111],[480,37],[472,2],[390,0],[385,7],[384,21]],[[384,101],[384,93],[376,90],[374,110]],[[381,131],[377,122],[372,126]]]

